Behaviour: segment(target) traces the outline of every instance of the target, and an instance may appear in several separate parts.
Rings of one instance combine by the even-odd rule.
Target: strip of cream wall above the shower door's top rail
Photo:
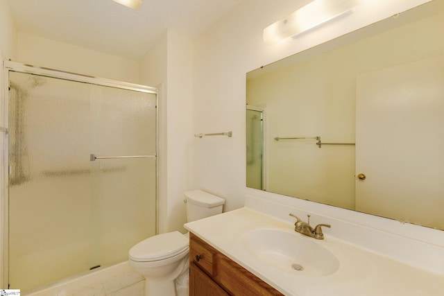
[[[24,64],[125,82],[139,82],[139,63],[85,47],[19,32],[17,60]]]

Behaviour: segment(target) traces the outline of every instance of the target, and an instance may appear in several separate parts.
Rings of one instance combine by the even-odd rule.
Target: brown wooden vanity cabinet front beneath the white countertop
[[[221,252],[189,234],[189,295],[283,295]]]

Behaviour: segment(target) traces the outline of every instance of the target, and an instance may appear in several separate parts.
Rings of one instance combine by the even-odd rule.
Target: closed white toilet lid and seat
[[[137,243],[130,249],[130,260],[137,262],[160,261],[171,258],[188,249],[188,240],[180,232],[157,234]]]

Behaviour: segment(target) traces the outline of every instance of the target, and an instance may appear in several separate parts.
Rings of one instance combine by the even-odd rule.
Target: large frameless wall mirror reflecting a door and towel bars
[[[247,186],[444,229],[443,28],[434,0],[247,73]]]

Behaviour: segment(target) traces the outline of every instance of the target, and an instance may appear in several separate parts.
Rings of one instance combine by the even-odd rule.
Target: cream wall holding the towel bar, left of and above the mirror
[[[363,1],[348,17],[316,28],[296,40],[273,45],[262,42],[262,29],[307,1],[239,3],[194,43],[194,130],[233,130],[232,138],[194,139],[194,187],[221,195],[226,199],[225,210],[242,207],[244,196],[252,191],[273,199],[271,193],[248,190],[245,186],[246,72],[425,2]],[[338,218],[343,213],[336,208],[330,212]],[[363,223],[371,220],[369,216],[359,215]]]

